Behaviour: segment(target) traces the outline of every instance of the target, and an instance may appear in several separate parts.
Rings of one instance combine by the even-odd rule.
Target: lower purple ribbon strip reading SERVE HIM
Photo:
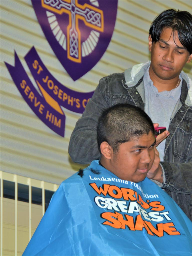
[[[32,48],[33,49],[33,48]],[[35,48],[34,48],[35,49]],[[35,51],[36,52],[36,51]],[[15,66],[5,62],[5,65],[16,84],[19,92],[38,116],[51,130],[64,137],[65,133],[65,114],[49,95],[46,98],[42,97],[31,83],[25,69],[22,66],[16,52],[15,52]],[[35,77],[35,80],[37,77]],[[38,80],[36,83],[39,84]],[[49,102],[49,103],[48,103]],[[51,104],[50,104],[51,103]],[[54,106],[54,107],[52,107]],[[58,111],[58,109],[60,110]]]

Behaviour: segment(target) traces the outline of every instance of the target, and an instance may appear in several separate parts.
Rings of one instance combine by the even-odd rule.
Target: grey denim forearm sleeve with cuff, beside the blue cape
[[[168,163],[161,162],[165,174],[162,188],[180,194],[192,195],[192,162]]]

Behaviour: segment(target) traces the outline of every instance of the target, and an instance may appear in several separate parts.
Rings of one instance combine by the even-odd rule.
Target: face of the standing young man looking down
[[[152,43],[152,38],[149,36],[149,50],[151,51],[150,72],[157,79],[170,80],[178,77],[185,63],[189,63],[192,59],[192,54],[190,55],[179,41],[177,31],[173,38],[171,28],[164,28],[156,43]]]

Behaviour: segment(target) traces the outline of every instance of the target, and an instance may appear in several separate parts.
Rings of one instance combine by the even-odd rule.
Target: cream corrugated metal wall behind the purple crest
[[[68,155],[68,143],[79,114],[65,110],[65,138],[51,131],[20,95],[4,61],[14,65],[14,49],[33,82],[24,56],[34,45],[45,66],[73,90],[93,91],[99,79],[150,59],[148,29],[168,8],[192,13],[192,1],[119,0],[111,42],[95,67],[73,81],[48,44],[30,1],[1,0],[1,170],[59,184],[80,165]],[[184,71],[192,78],[191,63]]]

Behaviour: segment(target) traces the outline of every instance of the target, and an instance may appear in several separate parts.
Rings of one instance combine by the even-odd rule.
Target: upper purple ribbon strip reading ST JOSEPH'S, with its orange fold
[[[85,106],[92,97],[93,92],[77,92],[61,84],[47,70],[38,56],[35,47],[32,47],[25,56],[25,61],[33,75],[45,100],[57,111],[60,106],[76,113],[83,113]],[[57,106],[56,106],[57,105]]]

